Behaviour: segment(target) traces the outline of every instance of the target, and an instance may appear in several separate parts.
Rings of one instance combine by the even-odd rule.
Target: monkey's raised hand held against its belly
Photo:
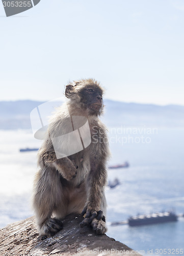
[[[76,177],[78,166],[68,157],[57,159],[53,164],[64,179],[70,181]]]

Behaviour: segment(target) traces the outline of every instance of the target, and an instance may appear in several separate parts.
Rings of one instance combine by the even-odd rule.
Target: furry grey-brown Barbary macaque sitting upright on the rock
[[[66,86],[68,101],[51,117],[38,153],[39,170],[34,182],[33,206],[41,235],[54,236],[63,228],[61,219],[76,213],[97,234],[106,228],[109,158],[106,127],[99,120],[103,89],[94,79]]]

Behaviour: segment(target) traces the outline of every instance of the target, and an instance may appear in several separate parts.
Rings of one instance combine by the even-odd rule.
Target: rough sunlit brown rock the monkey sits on
[[[97,236],[89,227],[80,228],[81,216],[69,215],[64,228],[54,237],[42,240],[34,217],[0,229],[0,255],[140,255],[106,235]]]

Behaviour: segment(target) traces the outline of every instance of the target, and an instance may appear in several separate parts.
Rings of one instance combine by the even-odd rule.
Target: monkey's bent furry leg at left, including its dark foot
[[[65,205],[59,173],[49,167],[40,169],[34,190],[33,206],[39,233],[53,236],[63,227],[59,219],[51,218],[59,205]]]

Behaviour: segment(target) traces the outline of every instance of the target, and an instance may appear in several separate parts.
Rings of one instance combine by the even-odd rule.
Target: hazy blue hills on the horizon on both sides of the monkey
[[[42,101],[0,101],[0,129],[31,129],[30,113]],[[105,100],[103,121],[107,126],[184,127],[184,106],[125,103]],[[50,113],[48,113],[48,116]]]

